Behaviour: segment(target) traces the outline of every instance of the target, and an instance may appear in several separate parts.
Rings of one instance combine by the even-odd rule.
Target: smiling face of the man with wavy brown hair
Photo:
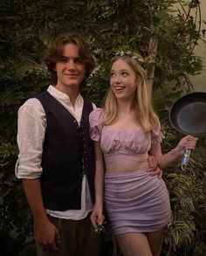
[[[67,87],[76,86],[79,89],[80,83],[84,80],[86,66],[79,56],[79,47],[72,43],[64,46],[63,59],[56,63],[58,82],[56,87],[65,91]]]

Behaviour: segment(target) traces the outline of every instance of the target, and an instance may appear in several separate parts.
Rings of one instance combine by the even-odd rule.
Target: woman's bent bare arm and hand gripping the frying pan
[[[150,154],[159,162],[161,168],[167,167],[170,163],[175,162],[178,157],[183,156],[184,149],[195,149],[197,138],[191,135],[185,136],[177,144],[175,149],[170,150],[167,154],[161,154],[161,143],[154,143],[150,149]]]

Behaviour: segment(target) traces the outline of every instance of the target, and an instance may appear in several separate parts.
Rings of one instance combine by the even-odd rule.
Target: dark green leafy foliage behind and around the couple
[[[174,12],[172,6],[178,3]],[[2,0],[0,3],[0,252],[32,255],[31,215],[21,182],[14,176],[17,161],[17,109],[46,89],[50,80],[42,57],[53,38],[66,31],[80,33],[91,44],[97,69],[82,92],[98,106],[108,87],[108,66],[115,52],[141,52],[148,69],[154,107],[165,131],[163,150],[182,135],[168,123],[168,109],[194,90],[189,74],[202,71],[193,53],[204,29],[198,0]],[[154,46],[154,47],[153,47]],[[155,70],[154,70],[155,67]],[[162,255],[205,255],[205,136],[189,168],[179,163],[164,171],[173,223]],[[26,252],[24,245],[29,245]],[[102,255],[112,255],[111,230]],[[110,254],[109,254],[110,253]],[[120,254],[120,252],[117,252]]]

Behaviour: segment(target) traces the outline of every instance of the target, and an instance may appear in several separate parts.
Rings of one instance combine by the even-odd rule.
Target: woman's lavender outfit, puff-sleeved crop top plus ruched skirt
[[[151,143],[161,142],[160,123],[148,133],[140,129],[120,131],[102,126],[102,109],[90,114],[93,141],[100,142],[106,163],[130,159],[148,162]],[[162,179],[148,170],[106,172],[105,204],[116,235],[127,232],[154,232],[170,220],[168,190]]]

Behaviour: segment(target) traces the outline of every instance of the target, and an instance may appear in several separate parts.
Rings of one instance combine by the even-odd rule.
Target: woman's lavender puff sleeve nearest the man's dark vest
[[[93,141],[99,142],[102,130],[102,108],[95,108],[89,115],[90,137]]]

